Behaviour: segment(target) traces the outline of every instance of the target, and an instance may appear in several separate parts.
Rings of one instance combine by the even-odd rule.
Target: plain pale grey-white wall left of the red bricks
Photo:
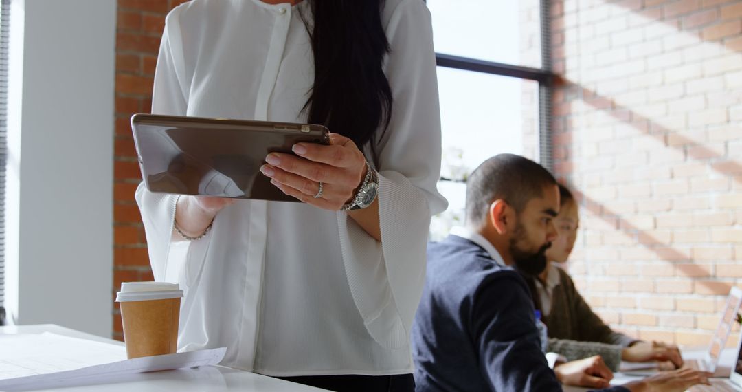
[[[7,307],[111,336],[116,0],[13,0]]]

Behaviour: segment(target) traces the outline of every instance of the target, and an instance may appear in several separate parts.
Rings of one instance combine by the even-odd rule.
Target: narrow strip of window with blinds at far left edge
[[[5,322],[5,154],[7,151],[7,48],[10,0],[0,0],[0,325]]]

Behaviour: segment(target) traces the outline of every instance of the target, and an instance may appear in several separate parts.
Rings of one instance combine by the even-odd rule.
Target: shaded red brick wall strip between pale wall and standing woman
[[[119,0],[116,28],[114,147],[114,295],[122,281],[151,281],[144,228],[134,191],[142,180],[129,117],[148,113],[165,15],[179,0]],[[114,338],[122,339],[119,308]]]

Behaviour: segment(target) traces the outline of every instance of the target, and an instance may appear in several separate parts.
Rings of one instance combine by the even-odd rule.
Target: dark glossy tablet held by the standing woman
[[[134,114],[131,130],[150,192],[298,201],[260,173],[271,152],[329,144],[322,125]]]

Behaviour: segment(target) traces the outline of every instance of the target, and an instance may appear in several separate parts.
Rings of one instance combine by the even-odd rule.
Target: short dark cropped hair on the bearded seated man
[[[543,189],[548,185],[557,185],[557,180],[543,166],[528,158],[513,154],[491,157],[467,180],[467,224],[481,224],[495,200],[505,200],[516,213],[520,213],[528,200],[543,197]]]

